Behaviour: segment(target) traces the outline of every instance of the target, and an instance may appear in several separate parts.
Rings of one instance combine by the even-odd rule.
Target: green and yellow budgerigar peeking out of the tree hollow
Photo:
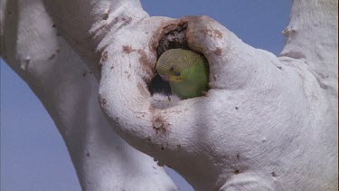
[[[169,81],[172,94],[181,99],[201,96],[208,91],[209,68],[202,55],[184,49],[170,49],[161,54],[156,72]]]

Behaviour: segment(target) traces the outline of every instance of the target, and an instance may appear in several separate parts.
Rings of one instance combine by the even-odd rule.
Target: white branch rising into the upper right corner
[[[326,91],[338,96],[338,1],[294,0],[280,56],[300,59]]]

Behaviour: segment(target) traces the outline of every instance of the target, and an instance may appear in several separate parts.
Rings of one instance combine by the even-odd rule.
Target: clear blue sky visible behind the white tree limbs
[[[288,24],[287,0],[142,0],[150,15],[179,18],[208,15],[243,42],[278,55]],[[0,190],[80,190],[62,138],[42,104],[3,60],[1,62]],[[181,190],[193,190],[170,171]]]

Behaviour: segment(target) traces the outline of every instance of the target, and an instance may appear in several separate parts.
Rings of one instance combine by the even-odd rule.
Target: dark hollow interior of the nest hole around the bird
[[[164,35],[161,37],[158,46],[156,47],[156,59],[159,59],[161,54],[165,53],[165,51],[169,49],[180,48],[193,51],[189,49],[186,39],[187,25],[187,22],[183,22],[180,24],[170,24],[165,27]],[[202,53],[199,54],[203,56]],[[152,96],[155,93],[165,94],[166,96],[170,96],[172,94],[168,81],[164,81],[157,72],[155,73],[155,77],[148,84],[148,91]]]

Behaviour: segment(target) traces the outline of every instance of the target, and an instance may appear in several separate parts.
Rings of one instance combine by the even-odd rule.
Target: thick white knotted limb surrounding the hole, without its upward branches
[[[158,107],[147,88],[156,50],[184,25],[187,46],[209,62],[211,90]],[[114,43],[102,53],[101,108],[129,144],[194,189],[337,188],[337,111],[302,61],[254,49],[205,16],[149,17],[104,40]]]

